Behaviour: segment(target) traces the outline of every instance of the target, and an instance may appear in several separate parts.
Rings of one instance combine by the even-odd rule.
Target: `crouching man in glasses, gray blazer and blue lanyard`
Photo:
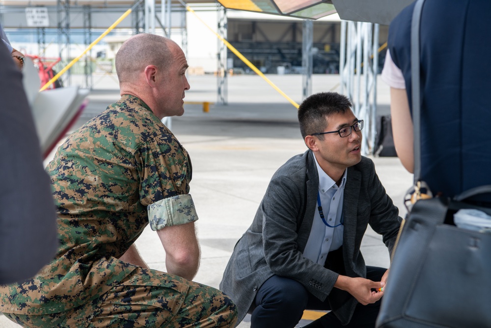
[[[303,310],[331,312],[307,327],[375,327],[388,270],[360,252],[367,225],[392,251],[401,218],[373,162],[361,156],[363,120],[335,92],[300,105],[309,148],[273,175],[237,242],[220,289],[251,313],[251,328],[289,328]]]

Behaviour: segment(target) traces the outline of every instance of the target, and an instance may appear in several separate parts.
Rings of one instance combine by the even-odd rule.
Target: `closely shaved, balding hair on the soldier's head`
[[[167,69],[172,63],[174,41],[155,34],[136,34],[126,40],[116,54],[115,66],[119,83],[135,80],[135,75],[148,65]]]

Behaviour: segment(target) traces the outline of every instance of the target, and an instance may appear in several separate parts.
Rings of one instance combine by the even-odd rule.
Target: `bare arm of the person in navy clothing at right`
[[[414,171],[413,126],[406,89],[390,88],[392,135],[397,156],[410,173]]]

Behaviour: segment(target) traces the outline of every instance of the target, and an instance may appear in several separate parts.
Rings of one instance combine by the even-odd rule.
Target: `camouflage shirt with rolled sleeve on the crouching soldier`
[[[56,313],[97,298],[136,268],[118,258],[149,221],[158,230],[197,219],[187,151],[131,95],[71,134],[47,170],[58,253],[36,277],[0,285],[1,312]]]

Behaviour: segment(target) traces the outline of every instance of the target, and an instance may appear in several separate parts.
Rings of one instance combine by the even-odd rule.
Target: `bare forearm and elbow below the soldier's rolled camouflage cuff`
[[[194,222],[164,227],[157,234],[164,246],[167,272],[192,280],[200,258]]]

